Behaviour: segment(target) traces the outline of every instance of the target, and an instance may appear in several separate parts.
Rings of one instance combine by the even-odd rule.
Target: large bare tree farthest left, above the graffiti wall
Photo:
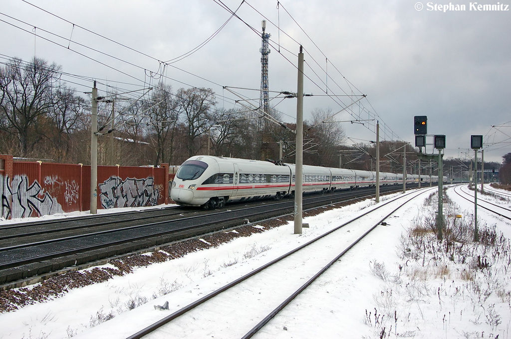
[[[12,59],[0,67],[0,110],[18,140],[22,157],[42,138],[38,120],[54,105],[52,90],[60,68],[38,58],[28,63]]]

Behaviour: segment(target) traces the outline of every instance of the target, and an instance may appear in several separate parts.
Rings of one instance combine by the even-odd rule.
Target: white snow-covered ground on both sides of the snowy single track
[[[457,207],[446,208],[444,213],[448,219],[462,214],[459,222],[468,224],[473,204],[450,194],[451,189],[447,192]],[[382,201],[396,196],[399,194]],[[419,230],[427,233],[427,227],[421,225],[427,224],[436,210],[436,202],[427,199],[428,196],[415,199],[388,219],[389,225],[371,232],[254,337],[511,337],[508,333],[511,250],[506,252],[509,246],[499,245],[497,253],[482,246],[464,245],[479,255],[479,265],[474,263],[474,257],[460,263],[458,257],[443,255],[439,246],[435,247],[436,241],[430,243],[432,248],[424,248],[424,254],[416,253],[413,246],[418,241],[413,243],[413,240],[417,239]],[[493,201],[510,205],[509,201]],[[51,301],[1,313],[0,338],[126,337],[125,333],[142,329],[137,327],[141,319],[156,320],[171,312],[157,310],[154,305],[168,301],[171,309],[183,307],[221,283],[238,278],[373,205],[374,201],[367,200],[308,217],[304,222],[310,228],[304,229],[302,235],[292,234],[290,223],[138,268],[132,274],[103,283],[71,289]],[[511,237],[508,221],[484,210],[478,210],[478,216],[481,229],[495,226],[497,237],[500,232],[506,238]],[[413,236],[410,238],[409,234]],[[259,255],[253,256],[255,253]],[[488,260],[486,264],[481,263],[484,259]],[[240,304],[238,309],[217,312],[228,311],[243,317],[247,307],[250,305]],[[105,321],[109,318],[112,319]],[[182,326],[186,333],[187,326],[191,328],[194,323]],[[224,324],[217,326],[222,328]],[[163,336],[154,334],[153,337]]]

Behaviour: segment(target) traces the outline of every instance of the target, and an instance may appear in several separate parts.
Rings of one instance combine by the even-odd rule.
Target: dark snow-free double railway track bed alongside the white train
[[[382,193],[395,190],[400,187],[380,189]],[[306,196],[304,209],[373,195],[374,188]],[[4,289],[18,287],[66,267],[86,266],[102,258],[287,215],[293,210],[290,200],[258,201],[213,211],[167,208],[5,226],[0,229],[0,284]],[[13,281],[16,283],[9,284]]]

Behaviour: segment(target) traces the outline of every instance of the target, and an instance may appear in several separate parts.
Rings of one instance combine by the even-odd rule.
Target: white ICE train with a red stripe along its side
[[[304,165],[303,191],[374,186],[376,172]],[[406,182],[419,180],[407,174]],[[429,182],[429,176],[424,177]],[[431,178],[437,182],[438,177]],[[402,184],[403,174],[380,172],[380,185]],[[227,202],[294,195],[295,165],[215,156],[191,157],[179,167],[170,197],[179,205],[221,207]]]

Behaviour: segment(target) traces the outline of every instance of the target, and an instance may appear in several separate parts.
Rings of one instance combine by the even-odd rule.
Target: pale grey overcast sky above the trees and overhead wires
[[[222,3],[233,11],[239,7],[239,18],[231,18],[195,53],[170,63],[201,45],[229,19]],[[335,120],[376,116],[381,139],[414,144],[413,116],[427,115],[428,133],[446,135],[447,157],[463,158],[467,152],[473,156],[472,134],[484,136],[486,161],[501,162],[502,155],[511,152],[511,8],[478,11],[476,3],[464,0],[451,4],[452,9],[464,5],[465,10],[448,7],[445,12],[438,6],[435,10],[435,5],[444,3],[405,0],[283,0],[278,6],[276,0],[222,3],[3,0],[0,62],[6,56],[30,60],[35,54],[62,65],[64,72],[84,77],[62,77],[80,92],[90,91],[91,80],[97,79],[100,95],[111,90],[107,85],[120,90],[155,85],[164,70],[165,82],[174,91],[212,88],[218,105],[234,108],[239,98],[223,86],[253,89],[236,91],[259,98],[264,15],[266,32],[271,34],[271,91],[296,92],[297,53],[299,44],[304,46],[304,91],[314,94],[305,98],[306,119],[315,108],[335,113],[351,104],[351,98],[324,96],[328,85],[330,95],[367,95],[361,106],[352,106],[352,114],[343,111]],[[493,0],[477,4],[507,6]],[[34,27],[40,37],[34,36]],[[294,122],[295,99],[270,104],[286,122]],[[349,143],[375,139],[375,122],[364,124],[343,124]]]

